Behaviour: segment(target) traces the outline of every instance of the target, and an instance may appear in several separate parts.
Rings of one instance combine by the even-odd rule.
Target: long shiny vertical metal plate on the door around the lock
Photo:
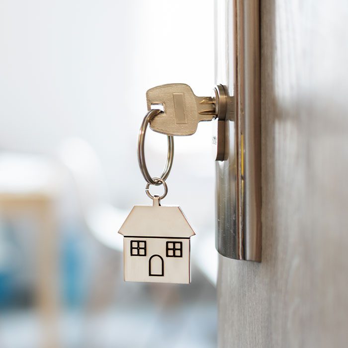
[[[259,1],[215,2],[216,82],[235,96],[226,120],[228,159],[216,163],[216,249],[261,261]]]

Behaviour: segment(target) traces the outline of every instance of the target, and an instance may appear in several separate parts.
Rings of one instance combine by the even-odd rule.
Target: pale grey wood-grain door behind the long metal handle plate
[[[216,0],[230,88],[244,1]],[[343,0],[260,1],[262,261],[219,257],[220,348],[347,347],[347,18]]]

